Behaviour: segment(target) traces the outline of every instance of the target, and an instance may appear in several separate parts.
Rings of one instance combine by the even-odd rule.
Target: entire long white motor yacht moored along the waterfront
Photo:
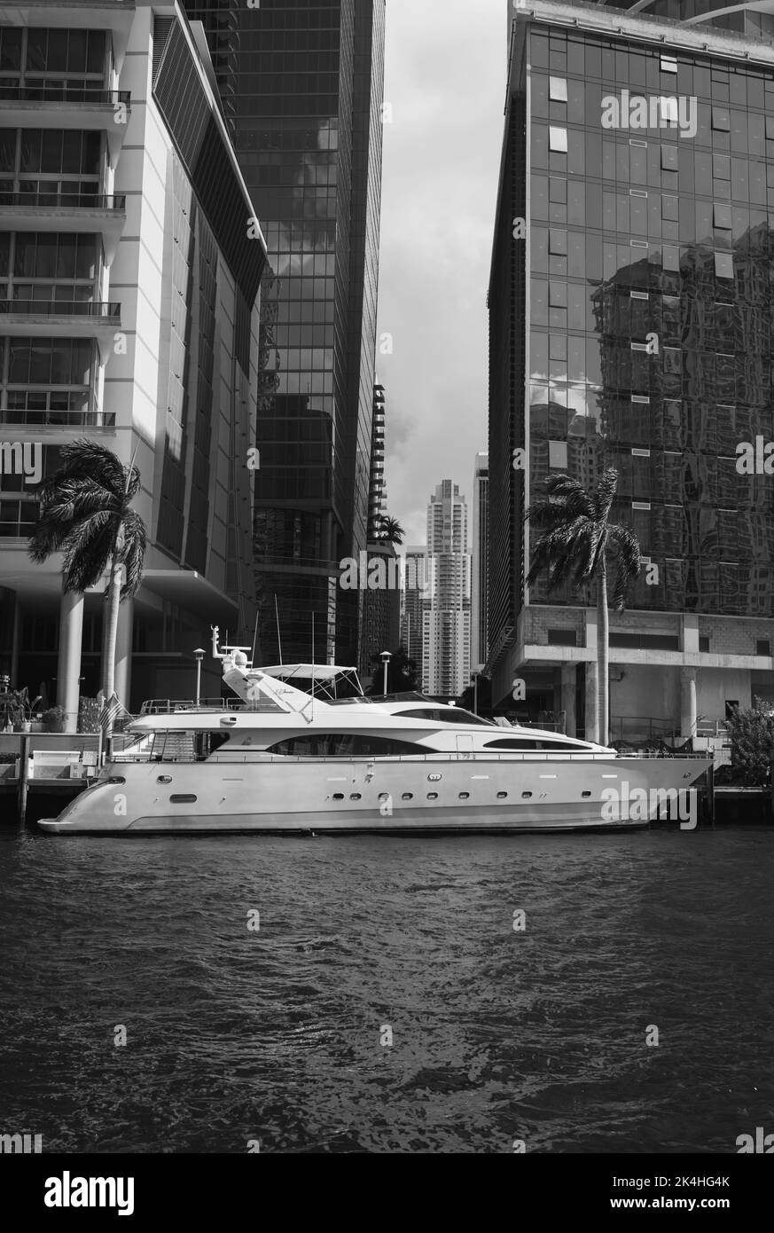
[[[629,829],[647,825],[710,764],[620,757],[418,693],[366,698],[354,668],[254,668],[246,651],[219,649],[213,628],[213,657],[237,697],[145,703],[96,782],[39,826],[129,835]]]

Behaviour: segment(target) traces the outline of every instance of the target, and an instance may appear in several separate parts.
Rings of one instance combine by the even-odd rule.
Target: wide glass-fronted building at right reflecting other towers
[[[615,466],[613,518],[647,559],[610,613],[613,739],[688,739],[774,695],[774,47],[751,30],[548,0],[515,15],[489,287],[488,671],[495,703],[521,678],[529,714],[566,710],[568,731],[592,735],[597,615],[590,593],[525,587],[524,515],[548,472],[590,488]]]

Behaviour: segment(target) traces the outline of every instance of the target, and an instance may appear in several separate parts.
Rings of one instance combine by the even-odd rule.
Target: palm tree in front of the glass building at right
[[[548,499],[530,506],[526,517],[545,534],[532,552],[528,586],[546,570],[548,591],[597,583],[598,740],[608,743],[608,565],[614,571],[611,603],[624,608],[626,591],[640,573],[642,559],[637,536],[619,523],[609,522],[619,473],[608,467],[588,493],[568,475],[550,475],[545,481]]]

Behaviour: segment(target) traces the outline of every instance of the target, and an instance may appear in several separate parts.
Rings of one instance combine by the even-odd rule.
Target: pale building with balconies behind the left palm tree
[[[99,689],[102,591],[63,597],[60,560],[27,559],[25,450],[49,473],[90,436],[142,473],[123,702],[190,695],[211,623],[253,633],[265,245],[211,72],[174,4],[0,9],[0,662],[70,723]]]

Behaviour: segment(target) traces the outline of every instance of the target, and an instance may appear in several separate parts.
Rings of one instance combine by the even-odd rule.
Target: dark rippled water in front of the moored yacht
[[[756,829],[5,832],[0,1129],[46,1152],[736,1152],[774,1131],[773,852]]]

